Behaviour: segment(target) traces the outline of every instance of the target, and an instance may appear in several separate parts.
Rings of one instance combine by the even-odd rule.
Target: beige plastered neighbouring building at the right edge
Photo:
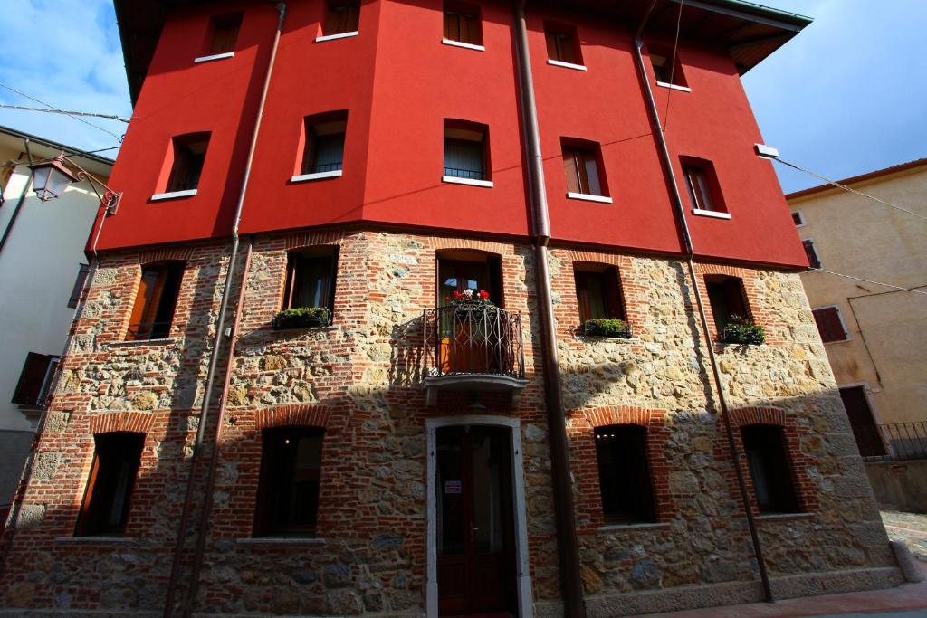
[[[927,217],[927,158],[840,183]],[[927,456],[927,220],[830,184],[786,195],[802,275],[864,457]]]

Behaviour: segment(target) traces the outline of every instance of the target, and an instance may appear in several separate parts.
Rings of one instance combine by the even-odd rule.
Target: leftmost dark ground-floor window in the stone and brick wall
[[[98,434],[94,442],[94,462],[76,535],[121,535],[129,519],[129,502],[142,460],[145,434]]]

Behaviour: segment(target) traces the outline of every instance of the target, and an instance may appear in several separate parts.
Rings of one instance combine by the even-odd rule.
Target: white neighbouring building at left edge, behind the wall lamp
[[[100,203],[87,181],[48,202],[35,196],[29,155],[38,161],[61,151],[70,156],[76,149],[0,127],[0,515],[13,498],[64,349]],[[103,182],[113,163],[95,155],[73,160]]]

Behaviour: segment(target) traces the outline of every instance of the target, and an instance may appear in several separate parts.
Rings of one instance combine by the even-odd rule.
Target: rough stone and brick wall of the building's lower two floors
[[[273,331],[287,252],[306,246],[339,247],[334,321],[323,328]],[[220,435],[198,611],[424,611],[425,419],[472,413],[473,403],[468,393],[442,392],[438,405],[429,408],[422,389],[422,311],[435,304],[437,255],[448,250],[498,255],[505,308],[523,316],[525,393],[514,408],[506,396],[480,397],[487,410],[479,412],[521,421],[533,598],[541,614],[558,612],[530,247],[375,231],[290,233],[254,241],[224,420],[221,427],[207,427],[208,443],[217,429]],[[171,338],[126,343],[141,265],[163,259],[186,263]],[[8,546],[0,585],[6,607],[147,612],[162,607],[227,259],[227,246],[103,259],[62,363]],[[239,272],[247,261],[243,255]],[[633,339],[575,334],[574,261],[618,268]],[[700,268],[708,273],[721,267]],[[707,351],[698,346],[684,266],[555,249],[551,273],[590,614],[756,599],[743,504],[705,372]],[[805,511],[761,518],[777,586],[794,594],[894,583],[887,538],[797,276],[736,274],[744,280],[752,315],[770,337],[765,347],[718,347],[737,410],[732,418],[751,423],[758,415],[783,426]],[[230,309],[229,319],[232,315]],[[220,372],[217,387],[225,377]],[[324,428],[317,536],[252,538],[261,430],[288,423]],[[648,428],[657,523],[603,523],[592,428],[610,423]],[[74,538],[93,435],[114,428],[146,433],[128,529],[122,538]],[[200,473],[195,479],[193,522],[204,478]],[[185,539],[184,574],[195,541],[192,533]],[[816,575],[804,575],[809,572]],[[808,582],[819,584],[815,589]]]

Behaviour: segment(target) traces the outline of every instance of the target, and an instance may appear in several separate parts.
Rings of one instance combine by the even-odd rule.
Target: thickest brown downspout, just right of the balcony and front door
[[[569,447],[566,441],[566,414],[557,362],[556,327],[553,323],[551,275],[547,263],[547,245],[551,239],[551,221],[544,184],[544,160],[540,151],[538,107],[534,96],[534,77],[527,41],[525,0],[515,4],[515,49],[518,61],[518,91],[521,99],[530,178],[532,236],[538,314],[540,318],[540,348],[544,369],[544,392],[547,408],[547,430],[551,448],[554,514],[556,517],[557,549],[560,557],[560,586],[564,599],[565,618],[586,615],[579,574],[577,527],[573,507],[573,486],[570,482]]]

